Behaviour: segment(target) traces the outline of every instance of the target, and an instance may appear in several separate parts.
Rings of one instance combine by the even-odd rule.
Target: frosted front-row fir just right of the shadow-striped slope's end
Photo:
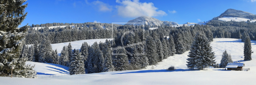
[[[74,49],[73,56],[70,58],[69,63],[69,74],[85,74],[85,68],[84,68],[84,58],[81,55],[82,53],[79,52],[79,50]]]

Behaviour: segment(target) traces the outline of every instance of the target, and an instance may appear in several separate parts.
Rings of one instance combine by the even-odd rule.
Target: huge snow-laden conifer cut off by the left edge
[[[0,76],[36,78],[34,66],[25,65],[26,59],[19,58],[25,43],[28,25],[18,28],[28,13],[24,13],[27,0],[4,0],[0,2]]]

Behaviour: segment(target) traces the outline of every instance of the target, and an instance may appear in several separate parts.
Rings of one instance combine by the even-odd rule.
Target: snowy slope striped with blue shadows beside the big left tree
[[[42,75],[69,75],[68,67],[52,63],[39,63],[27,61],[26,64],[36,65],[35,70],[39,76]]]

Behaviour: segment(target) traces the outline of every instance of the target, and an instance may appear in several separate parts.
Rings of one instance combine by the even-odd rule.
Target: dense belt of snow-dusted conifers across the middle
[[[146,25],[146,28],[147,27],[148,26]],[[132,31],[135,35],[127,33],[123,36],[124,32],[127,31]],[[113,43],[110,40],[106,40],[104,43],[99,42],[99,44],[97,44],[97,42],[95,42],[92,46],[89,46],[85,42],[82,44],[80,51],[75,49],[73,50],[72,46],[69,44],[68,46],[63,47],[60,56],[58,56],[57,53],[51,49],[49,39],[44,39],[41,43],[34,44],[31,47],[34,47],[35,50],[34,61],[55,63],[70,67],[70,74],[83,73],[73,72],[73,70],[76,70],[73,68],[79,68],[76,67],[74,63],[79,66],[82,65],[81,63],[83,63],[86,73],[135,70],[143,69],[148,65],[156,65],[158,62],[166,59],[169,56],[173,56],[174,54],[182,54],[185,51],[188,51],[192,42],[194,41],[194,36],[199,31],[203,31],[202,34],[206,36],[207,40],[213,40],[212,32],[210,27],[207,25],[182,27],[159,26],[158,29],[144,31],[142,26],[123,25],[114,30]],[[145,44],[122,48],[122,36],[124,46],[142,41],[145,41]],[[111,44],[113,44],[113,46],[111,46]],[[113,51],[112,47],[117,47],[119,49]],[[24,47],[24,49],[28,49],[28,47]],[[126,53],[125,50],[131,54]],[[30,52],[29,49],[28,52]],[[26,52],[24,51],[24,53]],[[83,57],[82,61],[81,59],[79,61],[79,53],[81,53],[81,56]],[[119,53],[122,55],[113,55],[112,53]],[[82,71],[83,69],[80,70]]]

